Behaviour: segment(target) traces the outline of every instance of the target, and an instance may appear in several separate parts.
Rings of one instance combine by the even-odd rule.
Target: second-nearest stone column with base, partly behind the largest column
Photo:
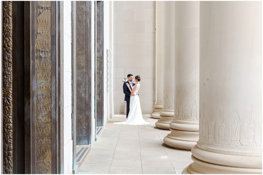
[[[175,114],[168,146],[191,150],[199,137],[199,1],[175,1]]]

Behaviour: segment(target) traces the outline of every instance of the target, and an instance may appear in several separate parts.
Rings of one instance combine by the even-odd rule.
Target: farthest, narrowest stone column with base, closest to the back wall
[[[156,1],[156,100],[152,118],[160,119],[163,108],[163,1]]]

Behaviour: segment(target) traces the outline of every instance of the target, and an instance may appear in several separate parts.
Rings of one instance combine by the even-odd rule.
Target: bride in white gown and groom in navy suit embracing
[[[135,76],[135,82],[133,82],[133,75],[127,75],[128,81],[123,84],[123,93],[125,94],[124,101],[127,103],[126,117],[124,122],[114,122],[113,124],[125,124],[125,125],[145,125],[149,122],[144,121],[141,114],[141,106],[139,99],[140,89],[140,75]]]

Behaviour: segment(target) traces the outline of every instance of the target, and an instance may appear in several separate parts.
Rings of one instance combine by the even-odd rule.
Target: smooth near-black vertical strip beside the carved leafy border
[[[24,2],[13,1],[12,9],[13,174],[24,174]]]

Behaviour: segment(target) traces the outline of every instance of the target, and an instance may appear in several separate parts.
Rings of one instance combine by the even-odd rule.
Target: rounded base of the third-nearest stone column
[[[155,126],[160,129],[169,130],[170,123],[173,122],[174,119],[174,111],[173,110],[162,110],[160,112],[161,119],[155,123]]]

